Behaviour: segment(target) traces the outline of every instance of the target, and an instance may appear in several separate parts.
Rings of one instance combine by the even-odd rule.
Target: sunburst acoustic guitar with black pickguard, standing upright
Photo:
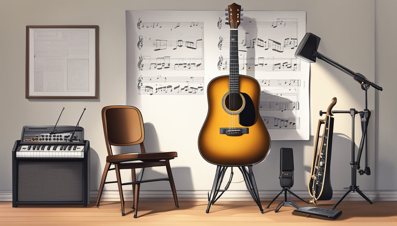
[[[209,163],[222,166],[253,165],[264,160],[270,136],[259,115],[260,85],[239,74],[238,33],[241,6],[227,7],[230,26],[229,75],[210,81],[208,114],[198,136],[198,149]]]

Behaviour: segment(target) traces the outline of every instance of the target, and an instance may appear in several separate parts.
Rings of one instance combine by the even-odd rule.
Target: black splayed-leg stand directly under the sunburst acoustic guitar
[[[248,170],[246,167],[248,167]],[[214,205],[216,200],[218,200],[222,196],[222,194],[224,194],[224,192],[229,188],[231,179],[233,178],[233,167],[231,168],[230,178],[225,186],[225,189],[220,189],[220,186],[222,184],[222,180],[225,176],[225,172],[226,172],[227,168],[228,168],[227,166],[220,166],[220,165],[218,165],[216,167],[214,184],[212,185],[211,194],[208,193],[208,207],[207,207],[207,210],[205,211],[206,213],[210,212],[211,205]],[[252,165],[238,166],[238,168],[240,169],[241,173],[243,174],[245,185],[247,186],[248,192],[251,194],[256,205],[258,205],[260,212],[263,213],[263,208],[262,208],[262,205],[260,204],[260,200],[259,200],[258,188],[256,187],[254,173],[252,171]],[[221,194],[219,194],[219,196],[218,196],[219,192],[221,192]],[[212,198],[210,199],[210,197],[212,197]]]

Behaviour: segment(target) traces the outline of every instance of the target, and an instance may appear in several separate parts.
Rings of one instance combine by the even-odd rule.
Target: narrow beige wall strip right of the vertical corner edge
[[[375,1],[375,81],[384,91],[375,95],[375,188],[397,190],[397,146],[395,113],[397,112],[397,83],[395,55],[397,47],[391,40],[397,37],[397,1]]]

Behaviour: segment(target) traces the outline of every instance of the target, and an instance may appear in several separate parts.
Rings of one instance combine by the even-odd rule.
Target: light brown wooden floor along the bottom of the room
[[[89,206],[18,206],[11,202],[0,202],[0,225],[397,225],[397,202],[378,201],[372,205],[366,201],[343,201],[343,211],[337,220],[320,220],[292,215],[293,207],[274,209],[276,200],[265,213],[259,211],[254,201],[217,201],[205,213],[206,201],[179,201],[179,208],[170,201],[140,200],[138,218],[133,218],[132,202],[127,201],[126,214],[121,216],[119,202],[103,201],[99,207],[91,201]],[[269,201],[262,201],[266,208]],[[307,206],[296,201],[299,206]],[[322,201],[323,208],[332,208],[334,202]],[[329,204],[324,204],[329,203]]]

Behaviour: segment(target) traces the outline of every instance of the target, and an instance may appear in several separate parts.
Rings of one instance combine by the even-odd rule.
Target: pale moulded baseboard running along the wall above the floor
[[[310,195],[307,190],[293,190],[295,194],[303,199],[310,199]],[[280,190],[260,190],[259,197],[262,200],[273,199]],[[188,201],[206,201],[208,197],[208,190],[177,190],[177,195],[179,200]],[[333,198],[331,200],[337,201],[340,197],[345,194],[346,190],[334,190]],[[397,191],[396,190],[371,190],[363,191],[372,201],[397,201]],[[123,191],[124,199],[126,201],[133,199],[132,190]],[[96,200],[98,196],[97,190],[92,190],[90,192],[90,199]],[[172,192],[170,190],[141,190],[139,192],[140,199],[172,199]],[[296,199],[291,195],[292,199]],[[247,190],[228,190],[222,195],[222,200],[225,201],[249,201],[252,200],[251,195]],[[220,200],[221,200],[220,199]],[[119,191],[118,190],[105,190],[102,193],[102,201],[119,201]],[[349,194],[345,200],[350,201],[362,201],[360,195],[355,193]],[[12,201],[12,191],[0,191],[0,201]]]

